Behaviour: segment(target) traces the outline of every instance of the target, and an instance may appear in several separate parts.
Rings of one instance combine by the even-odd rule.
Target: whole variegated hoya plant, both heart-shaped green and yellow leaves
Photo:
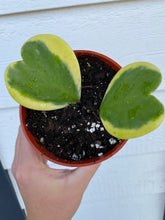
[[[81,72],[70,46],[55,35],[30,38],[22,47],[23,60],[5,71],[6,87],[22,106],[39,111],[57,110],[80,102]],[[151,93],[161,82],[159,69],[136,62],[121,68],[99,107],[105,129],[120,139],[145,135],[164,119],[164,106]]]

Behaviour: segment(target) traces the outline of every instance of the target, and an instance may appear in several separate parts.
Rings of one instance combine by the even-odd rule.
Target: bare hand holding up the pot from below
[[[12,172],[28,220],[70,220],[99,164],[75,170],[51,169],[19,129]]]

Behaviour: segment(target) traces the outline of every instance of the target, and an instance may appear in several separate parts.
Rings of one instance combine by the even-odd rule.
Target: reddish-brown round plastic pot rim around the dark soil
[[[86,55],[93,55],[94,57],[98,57],[102,61],[104,61],[106,64],[108,64],[111,69],[114,69],[115,71],[118,71],[121,68],[121,66],[119,64],[117,64],[115,61],[113,61],[109,57],[104,56],[100,53],[93,52],[93,51],[86,51],[86,50],[76,50],[74,52],[75,52],[77,57],[86,56]],[[36,151],[38,151],[46,159],[48,159],[48,160],[50,160],[54,163],[63,165],[63,166],[80,167],[80,166],[88,166],[88,165],[92,165],[92,164],[95,164],[95,163],[100,163],[100,162],[102,162],[104,160],[107,160],[108,158],[112,157],[114,154],[116,154],[127,142],[127,140],[122,140],[113,149],[111,149],[109,152],[105,153],[101,157],[97,156],[97,157],[94,157],[92,159],[82,159],[82,160],[79,160],[79,161],[64,160],[64,159],[61,159],[61,158],[55,156],[54,154],[50,153],[44,147],[40,146],[39,140],[37,140],[37,138],[35,138],[31,134],[31,132],[28,130],[28,128],[26,126],[26,122],[25,122],[26,117],[27,117],[27,109],[23,106],[20,106],[21,126],[22,126],[23,132],[24,132],[27,140],[32,145],[32,147]]]

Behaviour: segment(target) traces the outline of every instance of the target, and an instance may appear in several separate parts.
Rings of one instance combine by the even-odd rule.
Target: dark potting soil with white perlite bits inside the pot
[[[99,107],[115,71],[96,57],[78,58],[82,90],[81,100],[63,109],[28,109],[26,125],[41,147],[67,160],[102,156],[120,139],[111,136],[99,117]]]

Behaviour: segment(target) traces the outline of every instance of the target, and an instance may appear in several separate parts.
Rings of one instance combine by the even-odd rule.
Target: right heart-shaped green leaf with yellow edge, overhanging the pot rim
[[[151,93],[160,82],[159,69],[150,63],[137,62],[120,69],[100,107],[106,130],[129,139],[156,129],[164,119],[164,107]]]

